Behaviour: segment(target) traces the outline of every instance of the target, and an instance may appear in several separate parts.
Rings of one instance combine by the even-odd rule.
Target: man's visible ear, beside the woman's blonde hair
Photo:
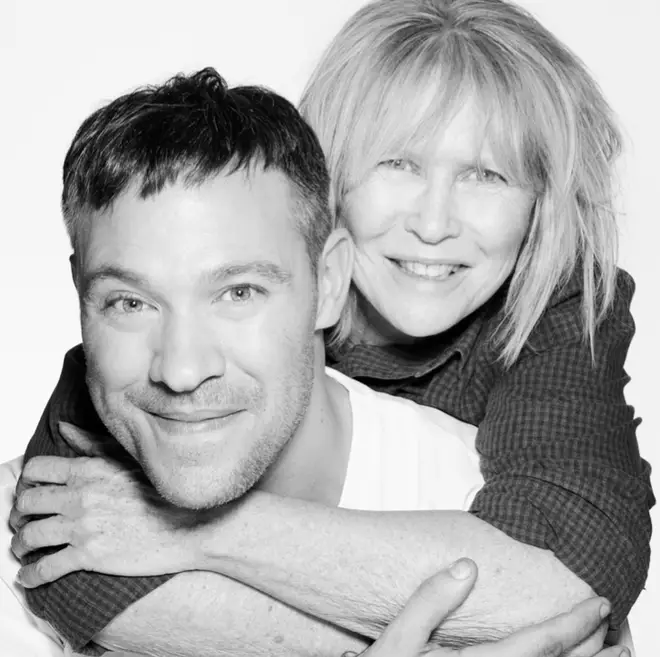
[[[353,240],[348,231],[333,230],[318,262],[317,331],[339,321],[353,275],[353,255]]]

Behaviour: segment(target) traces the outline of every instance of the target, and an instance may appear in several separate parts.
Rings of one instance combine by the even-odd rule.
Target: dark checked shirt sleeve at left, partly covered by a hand
[[[41,416],[25,452],[25,462],[37,455],[76,457],[63,440],[57,424],[65,420],[89,431],[107,432],[94,412],[85,385],[82,347],[74,347],[64,359],[60,380]],[[50,550],[50,552],[56,551]],[[23,559],[35,561],[47,551]],[[94,636],[132,603],[144,597],[172,575],[118,577],[78,571],[34,589],[26,589],[30,609],[48,621],[75,652],[101,655],[105,650]]]

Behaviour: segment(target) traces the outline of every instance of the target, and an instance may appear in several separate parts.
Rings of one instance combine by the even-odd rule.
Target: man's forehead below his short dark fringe
[[[263,169],[176,182],[147,198],[129,188],[88,217],[83,267],[119,264],[147,277],[189,278],[229,262],[268,260],[293,270],[306,264],[293,194],[283,174]]]

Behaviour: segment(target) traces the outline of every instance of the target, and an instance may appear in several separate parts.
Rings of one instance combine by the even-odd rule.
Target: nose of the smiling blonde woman
[[[427,180],[408,216],[406,230],[426,244],[439,244],[459,235],[461,224],[453,178],[436,176]]]

